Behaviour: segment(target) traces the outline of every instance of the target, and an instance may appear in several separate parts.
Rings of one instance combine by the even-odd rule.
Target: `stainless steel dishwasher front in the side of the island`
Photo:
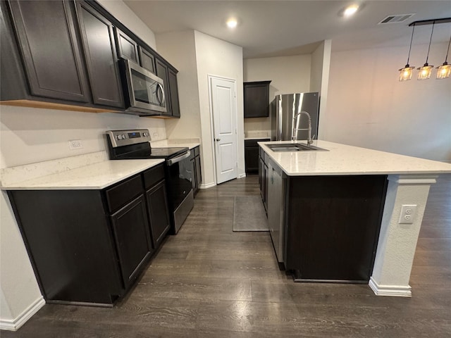
[[[268,226],[277,261],[285,269],[285,183],[283,170],[271,158],[268,163]]]

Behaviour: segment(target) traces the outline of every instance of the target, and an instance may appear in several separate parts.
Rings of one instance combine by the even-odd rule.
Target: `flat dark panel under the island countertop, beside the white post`
[[[387,177],[289,177],[285,268],[296,281],[369,282]]]

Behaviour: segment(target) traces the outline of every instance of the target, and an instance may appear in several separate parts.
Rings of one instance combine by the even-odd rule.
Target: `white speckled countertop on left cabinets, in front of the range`
[[[2,182],[2,190],[58,190],[58,189],[104,189],[163,163],[163,158],[149,160],[116,160],[80,166],[50,175],[34,177],[18,182]],[[39,166],[39,164],[37,164]],[[23,177],[27,177],[26,175]]]

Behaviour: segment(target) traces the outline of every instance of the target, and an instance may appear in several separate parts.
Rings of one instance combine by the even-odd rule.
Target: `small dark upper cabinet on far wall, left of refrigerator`
[[[269,116],[269,84],[271,81],[244,82],[245,118]]]

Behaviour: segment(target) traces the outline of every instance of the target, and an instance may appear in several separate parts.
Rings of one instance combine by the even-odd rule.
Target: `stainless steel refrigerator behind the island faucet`
[[[317,139],[319,118],[319,93],[297,93],[276,95],[271,102],[271,141],[290,141],[292,139],[293,118],[301,111],[311,118],[311,137]],[[296,139],[308,138],[307,114],[300,114]]]

